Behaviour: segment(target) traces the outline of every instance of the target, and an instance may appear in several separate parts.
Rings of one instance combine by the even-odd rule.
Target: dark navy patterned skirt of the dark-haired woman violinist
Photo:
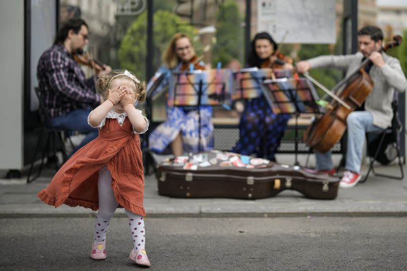
[[[275,153],[287,127],[290,115],[276,115],[264,97],[246,101],[239,122],[239,140],[232,152],[275,160]]]

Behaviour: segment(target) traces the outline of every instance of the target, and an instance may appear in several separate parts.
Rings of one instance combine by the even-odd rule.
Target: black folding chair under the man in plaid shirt
[[[47,159],[50,157],[50,155],[49,155],[50,151],[53,154],[53,156],[56,157],[56,152],[58,150],[60,150],[62,153],[63,162],[65,162],[67,160],[69,153],[67,153],[67,151],[65,149],[64,139],[69,140],[72,147],[73,148],[75,147],[70,138],[70,132],[72,132],[72,131],[58,129],[58,128],[55,128],[52,126],[51,117],[49,116],[49,114],[44,106],[44,102],[41,99],[40,90],[38,87],[35,87],[34,90],[35,90],[35,94],[36,94],[36,96],[38,98],[38,102],[39,102],[38,113],[39,113],[39,117],[40,117],[41,131],[38,136],[37,144],[35,146],[35,151],[33,154],[33,159],[31,161],[30,170],[28,171],[27,183],[31,183],[33,180],[35,180],[40,175],[42,167],[44,165],[44,159],[45,159],[45,157],[47,157]],[[40,147],[42,145],[41,139],[42,139],[43,134],[46,135],[46,144],[45,144],[44,148],[42,149],[41,164],[40,164],[37,174],[34,177],[30,178],[31,173],[33,171],[33,167],[34,167],[34,162],[36,161],[37,153],[38,153],[38,151],[40,151]],[[56,143],[58,144],[59,148],[56,147]],[[58,169],[57,163],[55,163],[55,169],[56,170]]]

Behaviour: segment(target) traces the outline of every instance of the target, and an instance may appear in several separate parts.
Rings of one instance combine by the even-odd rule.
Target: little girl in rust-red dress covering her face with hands
[[[83,206],[98,210],[91,257],[106,258],[106,232],[117,207],[125,209],[133,250],[130,259],[150,266],[145,250],[143,216],[144,170],[139,134],[149,123],[134,108],[146,98],[146,84],[132,72],[113,70],[98,80],[104,102],[88,117],[99,136],[77,151],[56,172],[49,186],[38,193],[45,203]]]

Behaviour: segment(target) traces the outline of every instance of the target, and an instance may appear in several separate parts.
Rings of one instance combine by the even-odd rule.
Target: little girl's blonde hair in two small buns
[[[123,69],[115,69],[110,71],[109,73],[101,76],[98,79],[98,83],[97,83],[97,91],[100,95],[102,95],[103,99],[107,99],[108,93],[109,93],[109,84],[111,83],[111,81],[114,81],[116,79],[129,79],[132,80],[135,84],[135,94],[139,94],[139,102],[143,102],[144,100],[146,100],[146,95],[147,95],[147,87],[146,87],[146,82],[141,81],[141,82],[136,82],[134,81],[132,78],[130,78],[129,76],[124,74]],[[129,73],[133,76],[135,76],[135,74],[131,71],[129,71]],[[114,78],[113,78],[114,77]]]

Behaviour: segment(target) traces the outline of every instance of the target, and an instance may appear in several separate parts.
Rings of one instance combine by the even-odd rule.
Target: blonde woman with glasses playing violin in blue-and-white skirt
[[[163,74],[164,80],[154,92],[168,85],[172,72],[193,69],[205,69],[205,63],[195,55],[191,39],[184,33],[175,34],[163,55],[165,63],[156,73]],[[153,84],[150,80],[147,89]],[[152,94],[154,96],[154,94]],[[200,114],[200,136],[198,125]],[[214,145],[212,107],[201,106],[199,110],[188,107],[167,106],[167,120],[159,125],[149,137],[149,148],[156,153],[181,155],[185,152],[211,150]],[[199,144],[199,145],[198,145]]]

